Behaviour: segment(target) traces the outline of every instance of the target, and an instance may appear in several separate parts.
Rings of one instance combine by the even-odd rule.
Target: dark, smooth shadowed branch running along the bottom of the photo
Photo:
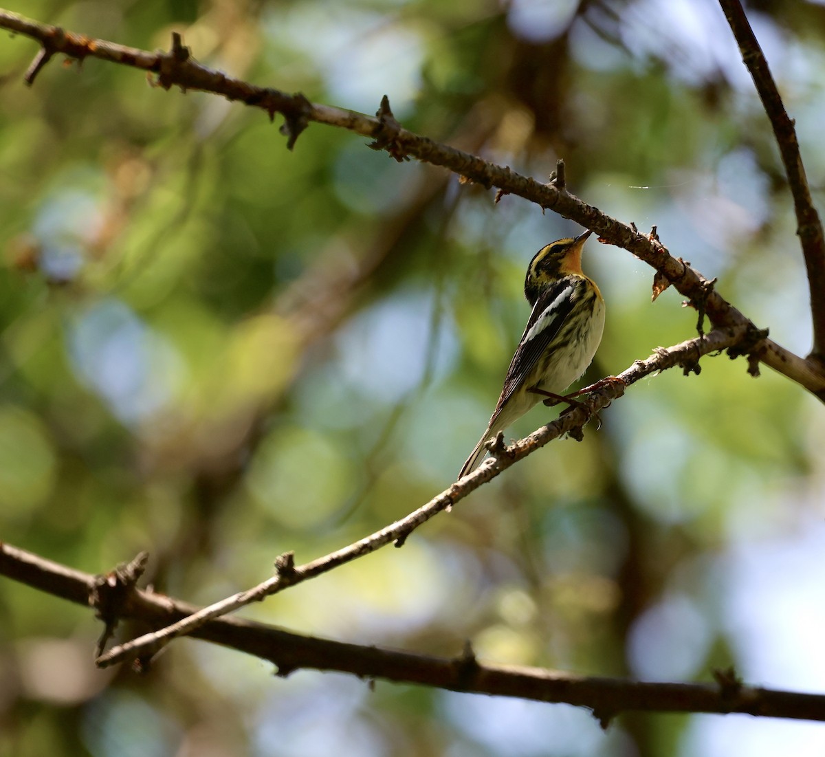
[[[120,576],[91,576],[0,543],[0,575],[68,599],[90,604],[96,586]],[[113,578],[114,577],[114,578]],[[125,585],[125,584],[124,584]],[[197,608],[132,586],[119,605],[120,618],[160,626],[196,613]],[[603,725],[621,712],[747,712],[761,717],[825,721],[825,695],[799,694],[743,685],[732,671],[716,672],[714,684],[645,683],[588,678],[559,670],[488,665],[469,647],[455,658],[434,657],[330,639],[301,636],[240,618],[210,620],[193,636],[271,661],[278,675],[300,668],[335,670],[359,678],[385,679],[474,694],[568,703],[592,710]]]

